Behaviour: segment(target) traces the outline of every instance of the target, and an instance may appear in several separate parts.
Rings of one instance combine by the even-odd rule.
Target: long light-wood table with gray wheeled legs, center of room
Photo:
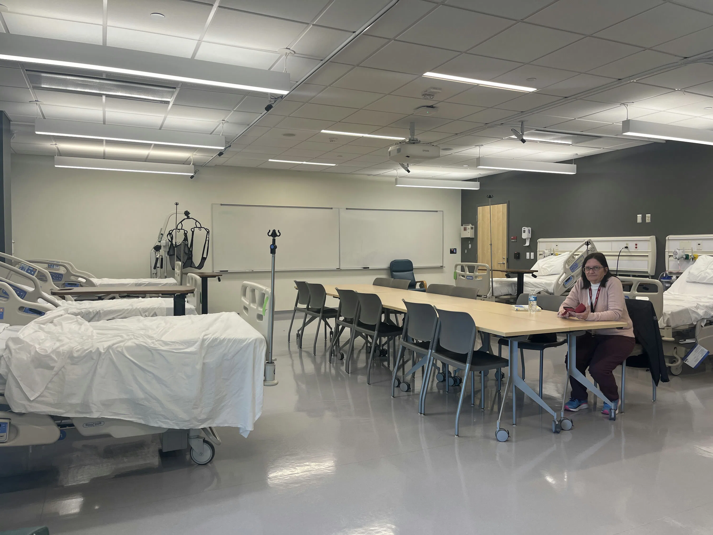
[[[516,424],[516,407],[515,407],[515,389],[522,390],[525,394],[533,399],[537,404],[540,405],[545,411],[549,412],[553,416],[553,432],[559,432],[561,429],[571,429],[571,426],[563,426],[563,420],[566,420],[568,424],[571,424],[570,419],[565,418],[565,394],[562,397],[562,409],[560,409],[560,419],[557,418],[557,413],[550,408],[550,406],[545,403],[545,401],[535,393],[535,391],[528,386],[527,383],[518,375],[518,340],[520,337],[525,337],[528,335],[541,334],[545,332],[560,332],[567,336],[567,346],[568,346],[568,377],[574,377],[580,383],[582,383],[587,389],[593,392],[597,397],[602,399],[605,403],[612,404],[612,402],[605,397],[604,394],[595,387],[595,385],[590,382],[585,375],[577,370],[575,366],[576,360],[576,337],[582,335],[585,330],[600,330],[600,329],[612,329],[627,327],[625,322],[588,322],[583,320],[577,320],[574,318],[562,318],[558,317],[557,312],[552,312],[550,310],[541,310],[539,312],[520,312],[514,310],[512,305],[506,305],[504,303],[498,303],[493,301],[484,300],[473,300],[466,299],[463,297],[451,297],[450,295],[438,295],[429,294],[426,292],[414,292],[413,290],[399,290],[398,288],[374,286],[369,284],[340,284],[340,285],[324,285],[324,289],[327,291],[327,295],[332,297],[339,297],[337,294],[337,287],[340,290],[354,290],[356,292],[362,293],[375,293],[379,295],[381,299],[381,305],[385,308],[391,310],[399,310],[399,312],[406,312],[406,306],[404,305],[404,300],[409,302],[427,302],[434,307],[441,308],[443,310],[457,310],[461,312],[468,312],[473,318],[478,330],[485,333],[485,350],[490,351],[490,335],[496,335],[498,337],[507,338],[509,341],[508,345],[508,360],[510,362],[510,370],[508,373],[508,383],[506,384],[506,397],[509,389],[509,384],[513,384],[513,425]],[[567,387],[565,385],[565,392],[567,392]],[[498,432],[501,431],[500,420],[502,417],[503,406],[505,404],[505,399],[501,404],[500,415],[498,416],[498,423],[496,429],[496,437],[498,440],[501,439],[502,435]],[[616,419],[616,414],[611,411],[610,419]],[[504,429],[503,429],[504,431]],[[509,434],[508,434],[509,436]],[[507,438],[506,438],[507,439]]]

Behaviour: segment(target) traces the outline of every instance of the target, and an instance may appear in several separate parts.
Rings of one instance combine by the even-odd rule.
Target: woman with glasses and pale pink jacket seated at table
[[[565,307],[576,308],[580,303],[587,307],[584,312],[578,314],[565,310]],[[619,408],[619,391],[612,372],[634,349],[634,329],[624,302],[622,283],[611,274],[602,253],[591,253],[585,258],[582,277],[560,306],[559,315],[593,322],[627,322],[628,326],[624,329],[587,331],[577,338],[577,369],[585,373],[589,367],[589,373],[599,384],[602,394],[614,404],[614,407],[610,407],[605,403],[602,414],[608,415],[611,410],[616,413]],[[576,412],[588,408],[587,389],[574,377],[570,377],[570,384],[572,397],[565,404],[565,409]]]

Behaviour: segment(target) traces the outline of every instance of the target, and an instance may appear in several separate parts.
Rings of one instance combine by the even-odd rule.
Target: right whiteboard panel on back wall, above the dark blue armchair
[[[389,267],[408,258],[414,267],[443,265],[443,212],[435,210],[339,210],[339,265]]]

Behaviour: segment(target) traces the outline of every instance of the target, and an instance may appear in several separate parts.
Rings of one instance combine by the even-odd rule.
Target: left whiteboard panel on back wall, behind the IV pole
[[[339,209],[304,206],[212,205],[214,271],[270,271],[273,228],[276,270],[339,267]]]

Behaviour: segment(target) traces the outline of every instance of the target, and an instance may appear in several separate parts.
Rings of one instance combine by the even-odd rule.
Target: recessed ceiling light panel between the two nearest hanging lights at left
[[[41,71],[27,71],[27,77],[35,89],[89,93],[140,101],[168,103],[175,91],[173,87],[151,86],[145,83],[92,78],[90,76],[69,76]]]

